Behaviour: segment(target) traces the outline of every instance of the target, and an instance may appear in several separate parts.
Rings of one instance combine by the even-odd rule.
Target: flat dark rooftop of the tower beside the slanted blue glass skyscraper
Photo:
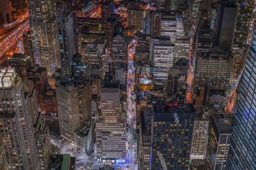
[[[234,120],[233,114],[218,114],[212,116],[219,133],[221,134],[231,134],[232,123]]]

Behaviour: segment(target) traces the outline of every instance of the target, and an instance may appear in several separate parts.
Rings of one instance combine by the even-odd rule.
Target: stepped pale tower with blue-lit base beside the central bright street
[[[120,85],[106,74],[100,92],[101,114],[96,120],[97,159],[116,162],[125,159],[125,122],[120,111]]]

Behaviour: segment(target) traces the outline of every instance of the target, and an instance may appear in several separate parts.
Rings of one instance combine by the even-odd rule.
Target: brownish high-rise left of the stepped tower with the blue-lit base
[[[61,138],[69,145],[81,149],[80,141],[77,140],[83,138],[77,138],[77,131],[92,117],[90,83],[77,82],[72,78],[57,81],[56,96]]]

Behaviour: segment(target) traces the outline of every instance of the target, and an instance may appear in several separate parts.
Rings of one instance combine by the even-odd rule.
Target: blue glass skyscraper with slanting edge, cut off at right
[[[255,69],[256,69],[256,30],[253,27],[253,39],[248,53],[243,76],[239,100],[237,101],[236,116],[232,129],[230,152],[227,169],[255,169]]]

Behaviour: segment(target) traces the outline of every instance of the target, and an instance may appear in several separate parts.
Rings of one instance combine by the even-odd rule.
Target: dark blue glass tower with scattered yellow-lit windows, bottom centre
[[[188,169],[193,121],[192,104],[154,106],[151,169]]]

